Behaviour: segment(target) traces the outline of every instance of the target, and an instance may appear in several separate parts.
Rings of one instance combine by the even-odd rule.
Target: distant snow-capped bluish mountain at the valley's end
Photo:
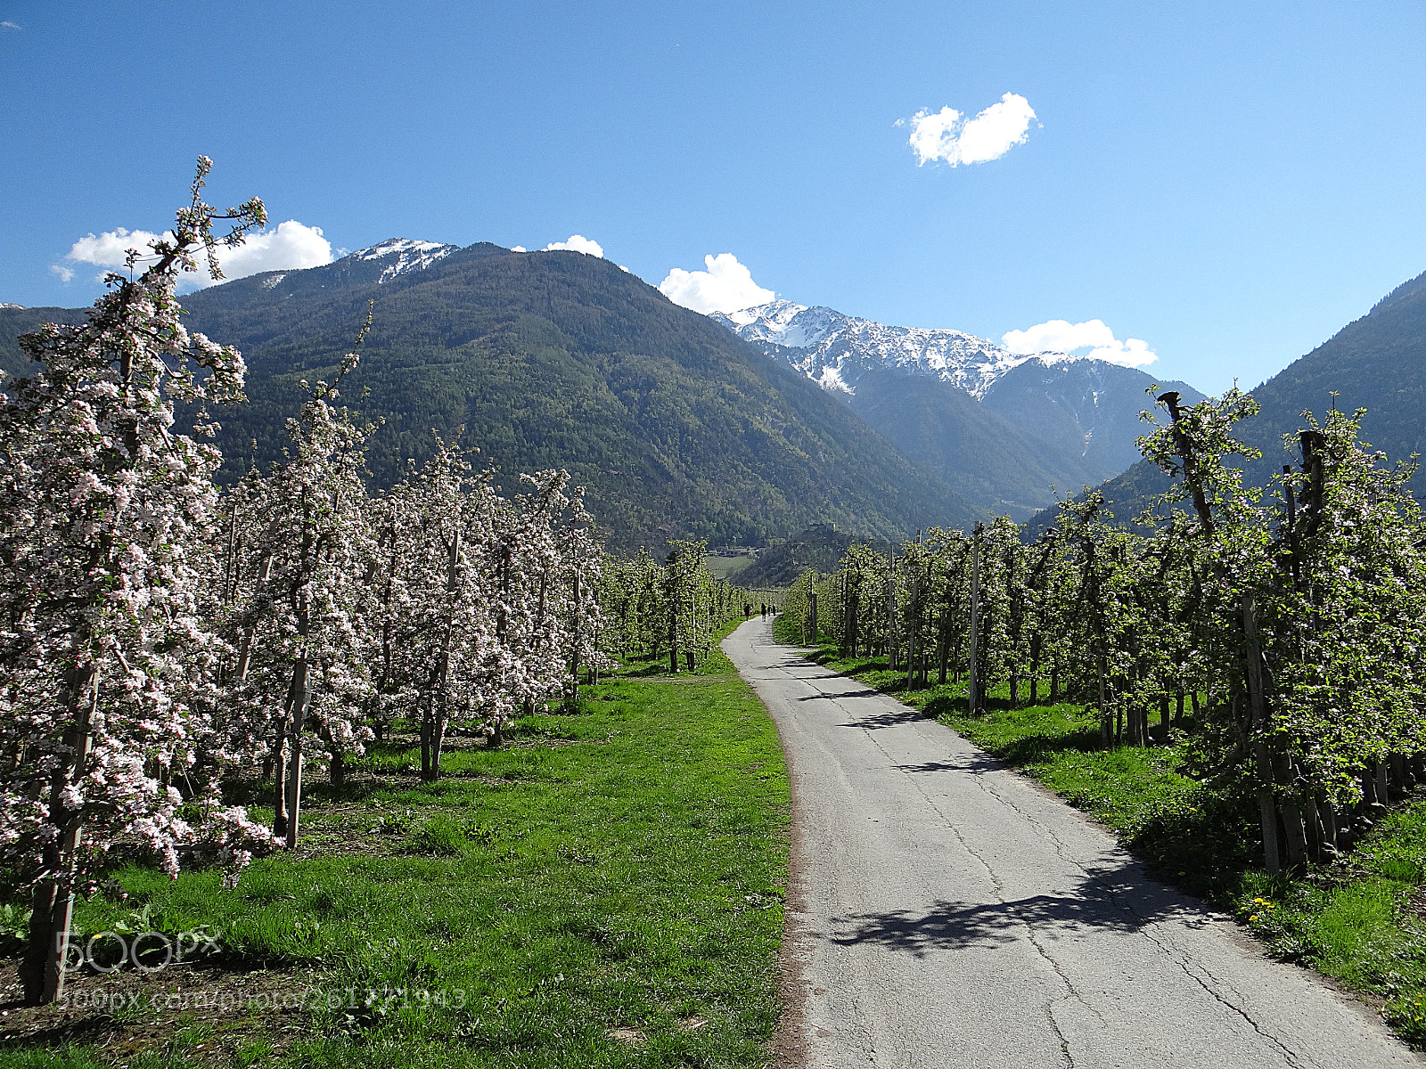
[[[1124,470],[1155,382],[1068,353],[1012,353],[984,338],[773,301],[732,315],[737,336],[843,398],[950,486],[1017,519]],[[1165,383],[1185,398],[1186,383]]]

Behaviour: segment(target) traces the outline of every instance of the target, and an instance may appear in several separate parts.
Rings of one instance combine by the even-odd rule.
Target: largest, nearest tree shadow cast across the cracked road
[[[1131,908],[1132,905],[1132,908]],[[891,909],[831,918],[838,946],[880,944],[923,958],[931,951],[994,946],[1021,938],[1025,928],[1040,935],[1079,931],[1138,932],[1172,919],[1202,928],[1214,916],[1201,905],[1147,878],[1137,864],[1101,869],[1062,895],[1032,895],[1008,902],[940,901],[924,914]]]

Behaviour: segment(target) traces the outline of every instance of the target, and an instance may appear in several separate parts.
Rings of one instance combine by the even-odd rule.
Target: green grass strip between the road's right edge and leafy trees
[[[796,641],[786,621],[779,637]],[[935,717],[1108,825],[1149,871],[1249,928],[1266,949],[1362,992],[1386,1023],[1426,1049],[1426,800],[1407,798],[1329,867],[1269,877],[1261,869],[1256,802],[1245,784],[1209,788],[1186,775],[1194,723],[1169,745],[1099,745],[1098,717],[1074,704],[1012,708],[1007,687],[968,716],[964,683],[906,690],[884,660],[814,659]],[[1024,691],[1021,691],[1024,697]],[[1158,717],[1152,718],[1158,730]]]

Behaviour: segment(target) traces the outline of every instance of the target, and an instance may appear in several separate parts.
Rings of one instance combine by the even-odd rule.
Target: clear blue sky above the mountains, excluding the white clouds
[[[580,234],[655,285],[732,252],[890,324],[1101,319],[1214,392],[1426,271],[1419,0],[0,0],[0,301],[91,301],[74,242],[163,228],[200,153],[214,201],[334,249]],[[918,165],[896,125],[1007,93],[1035,121],[987,162]]]

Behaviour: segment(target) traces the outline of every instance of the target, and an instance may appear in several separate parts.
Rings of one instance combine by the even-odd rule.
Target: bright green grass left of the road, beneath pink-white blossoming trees
[[[96,898],[78,925],[143,904],[160,931],[221,931],[230,974],[309,974],[338,996],[275,1053],[251,1038],[222,1065],[761,1066],[789,785],[766,711],[717,660],[586,687],[579,713],[525,718],[505,750],[448,754],[436,784],[406,773],[409,747],[376,745],[341,797],[314,790],[307,849],[325,857],[258,859],[234,891],[128,867],[130,899]],[[212,1060],[180,1038],[145,1056]],[[107,1060],[0,1049],[4,1065]]]

